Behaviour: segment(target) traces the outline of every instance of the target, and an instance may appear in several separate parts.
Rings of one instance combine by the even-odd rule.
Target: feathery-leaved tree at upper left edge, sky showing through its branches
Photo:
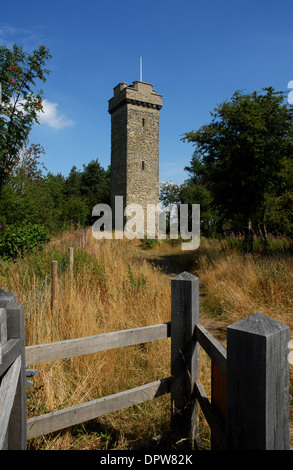
[[[43,91],[36,81],[46,82],[48,49],[40,46],[32,54],[14,45],[0,47],[0,188],[10,175],[38,113],[42,111]]]

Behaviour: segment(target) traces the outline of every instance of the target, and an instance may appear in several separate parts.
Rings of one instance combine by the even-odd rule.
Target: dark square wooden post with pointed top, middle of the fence
[[[198,278],[187,272],[171,280],[171,429],[182,438],[195,437],[196,404],[192,396],[198,378]]]

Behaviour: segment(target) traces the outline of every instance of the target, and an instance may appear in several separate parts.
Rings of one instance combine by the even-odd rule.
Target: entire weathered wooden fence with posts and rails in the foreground
[[[211,428],[212,449],[289,449],[286,325],[260,313],[250,315],[227,328],[226,350],[200,324],[198,278],[184,272],[171,280],[170,322],[24,348],[23,308],[11,297],[5,291],[0,294],[0,306],[5,307],[1,309],[0,448],[25,449],[27,439],[170,393],[170,427],[182,438],[198,437],[200,406]],[[167,337],[171,337],[170,377],[26,420],[24,364]],[[199,345],[211,358],[211,400],[199,380]]]

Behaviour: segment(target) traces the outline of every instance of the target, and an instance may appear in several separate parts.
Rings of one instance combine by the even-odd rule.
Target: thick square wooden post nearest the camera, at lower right
[[[289,328],[254,313],[227,328],[227,447],[289,449]]]

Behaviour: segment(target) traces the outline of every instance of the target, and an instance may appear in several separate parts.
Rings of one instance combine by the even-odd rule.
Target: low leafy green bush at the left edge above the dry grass
[[[0,256],[16,258],[24,253],[43,248],[50,239],[46,227],[40,224],[7,225],[0,236]]]

